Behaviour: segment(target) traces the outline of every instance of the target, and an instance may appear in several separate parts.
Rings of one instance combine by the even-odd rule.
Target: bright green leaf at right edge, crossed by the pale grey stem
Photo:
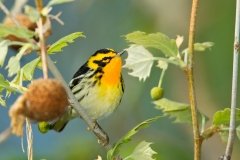
[[[225,108],[223,111],[217,111],[213,116],[213,124],[221,125],[221,124],[229,124],[230,123],[230,114],[231,109]],[[240,109],[236,109],[236,121],[240,120]]]

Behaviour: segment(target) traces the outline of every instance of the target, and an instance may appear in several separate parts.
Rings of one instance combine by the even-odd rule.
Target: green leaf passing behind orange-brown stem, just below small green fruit
[[[192,124],[191,107],[189,104],[178,103],[166,98],[153,102],[156,105],[156,109],[161,109],[165,115],[169,115],[170,118],[174,117],[175,123],[188,123]],[[200,125],[205,125],[209,118],[198,110],[198,122]]]

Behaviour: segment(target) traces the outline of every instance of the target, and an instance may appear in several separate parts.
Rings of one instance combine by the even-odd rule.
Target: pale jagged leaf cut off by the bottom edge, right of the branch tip
[[[133,153],[128,156],[127,158],[124,158],[124,160],[127,160],[129,158],[132,158],[134,160],[154,160],[152,158],[153,154],[157,154],[157,152],[153,151],[150,147],[150,144],[145,141],[140,142],[136,148],[134,149]]]

